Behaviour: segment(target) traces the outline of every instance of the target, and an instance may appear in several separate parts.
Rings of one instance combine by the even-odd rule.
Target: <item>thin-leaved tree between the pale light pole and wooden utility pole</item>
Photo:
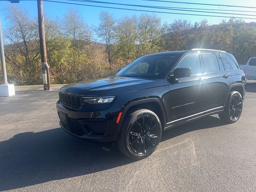
[[[11,81],[17,84],[38,84],[41,80],[38,28],[28,12],[9,5],[6,7],[9,25],[4,31],[10,44],[6,46],[7,65]]]

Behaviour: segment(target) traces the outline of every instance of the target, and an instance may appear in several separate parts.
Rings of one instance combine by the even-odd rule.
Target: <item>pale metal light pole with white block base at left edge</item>
[[[1,60],[1,69],[2,69],[2,85],[0,85],[0,97],[13,96],[15,95],[14,84],[8,84],[7,82],[5,56],[4,56],[4,40],[3,40],[3,34],[2,34],[1,19],[0,19],[0,60]]]

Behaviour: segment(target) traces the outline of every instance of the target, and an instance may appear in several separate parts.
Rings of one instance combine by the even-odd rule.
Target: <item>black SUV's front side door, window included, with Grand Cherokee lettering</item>
[[[175,68],[189,67],[192,75],[169,79],[170,119],[169,125],[204,113],[206,102],[206,80],[201,70],[198,53],[186,54]]]

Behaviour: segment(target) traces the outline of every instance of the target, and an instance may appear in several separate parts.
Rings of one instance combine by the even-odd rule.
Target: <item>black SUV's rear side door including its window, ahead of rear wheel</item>
[[[219,54],[201,53],[204,74],[207,78],[207,99],[205,111],[207,113],[222,110],[232,84],[230,73],[225,71]]]

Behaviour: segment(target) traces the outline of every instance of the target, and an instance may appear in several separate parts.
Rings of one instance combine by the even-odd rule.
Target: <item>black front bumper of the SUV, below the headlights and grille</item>
[[[121,105],[82,106],[74,110],[57,102],[56,108],[59,117],[66,116],[66,121],[61,120],[60,126],[69,134],[90,142],[115,142],[118,139],[116,119],[122,110]]]

